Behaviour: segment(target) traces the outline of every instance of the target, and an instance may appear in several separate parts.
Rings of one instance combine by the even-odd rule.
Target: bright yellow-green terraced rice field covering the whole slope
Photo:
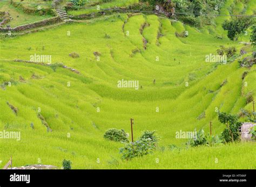
[[[232,3],[227,1],[221,12]],[[246,4],[248,15],[251,6]],[[234,10],[240,11],[240,4]],[[169,149],[171,144],[184,147],[187,141],[177,139],[176,131],[203,128],[208,132],[212,121],[213,134],[219,134],[225,126],[218,121],[215,107],[233,114],[252,109],[246,94],[256,96],[255,66],[248,70],[239,67],[237,60],[226,65],[205,62],[205,56],[216,54],[220,45],[253,51],[226,37],[220,26],[224,19],[218,17],[216,27],[198,30],[155,15],[117,14],[0,39],[0,83],[5,82],[0,89],[0,130],[21,131],[21,141],[0,139],[0,167],[12,155],[15,166],[41,161],[61,167],[66,158],[74,169],[255,169],[254,142]],[[215,38],[212,29],[224,38]],[[175,32],[183,31],[188,31],[188,37],[176,37]],[[71,58],[71,52],[79,58]],[[30,60],[35,53],[50,55],[52,64],[63,63],[80,74],[14,61]],[[139,89],[118,88],[122,79],[138,80]],[[18,109],[17,114],[6,102]],[[198,120],[202,113],[205,118]],[[148,129],[156,130],[161,140],[154,154],[123,161],[118,153],[123,144],[107,141],[103,135],[109,128],[130,133],[131,117],[135,138]]]

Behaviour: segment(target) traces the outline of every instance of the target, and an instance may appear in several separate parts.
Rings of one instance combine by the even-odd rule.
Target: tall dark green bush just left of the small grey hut
[[[238,116],[219,112],[218,119],[226,126],[226,129],[221,133],[221,139],[225,142],[238,141],[240,138],[239,128],[242,124],[238,121]]]

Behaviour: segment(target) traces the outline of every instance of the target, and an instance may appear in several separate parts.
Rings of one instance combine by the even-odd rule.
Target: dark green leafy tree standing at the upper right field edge
[[[227,37],[231,40],[234,40],[238,35],[240,35],[242,40],[242,34],[251,24],[252,19],[250,17],[237,17],[232,20],[225,20],[222,27],[227,31]]]

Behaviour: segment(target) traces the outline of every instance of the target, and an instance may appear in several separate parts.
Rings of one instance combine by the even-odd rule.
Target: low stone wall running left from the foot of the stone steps
[[[24,30],[28,30],[28,29],[34,29],[36,27],[40,27],[40,26],[45,26],[45,25],[52,25],[58,22],[62,22],[62,19],[60,19],[60,17],[53,17],[53,18],[49,18],[49,19],[44,19],[40,22],[34,22],[34,23],[29,23],[26,25],[21,25],[21,26],[17,26],[14,28],[0,28],[0,32],[19,32],[19,31],[24,31]]]

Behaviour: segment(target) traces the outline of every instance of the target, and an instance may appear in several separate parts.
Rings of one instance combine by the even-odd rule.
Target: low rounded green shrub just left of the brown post
[[[109,129],[104,134],[104,138],[115,142],[129,142],[124,129]]]

